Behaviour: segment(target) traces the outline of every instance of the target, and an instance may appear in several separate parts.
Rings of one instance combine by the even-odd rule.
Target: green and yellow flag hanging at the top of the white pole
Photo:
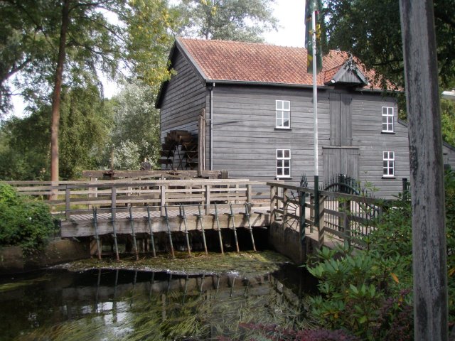
[[[319,11],[321,11],[321,0],[306,0],[305,6],[305,45],[307,52],[306,71],[313,73],[313,28],[311,27],[311,16],[316,16],[316,73],[322,69],[321,53],[321,23],[319,21]]]

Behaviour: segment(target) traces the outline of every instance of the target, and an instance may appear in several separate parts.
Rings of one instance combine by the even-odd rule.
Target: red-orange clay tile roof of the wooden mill
[[[313,85],[313,76],[306,72],[305,48],[225,40],[178,38],[178,41],[205,74],[206,80]],[[347,59],[348,53],[331,50],[323,58],[317,84],[330,81]],[[373,70],[366,71],[360,63],[358,69],[373,81]],[[371,84],[365,87],[371,88]],[[381,88],[375,85],[373,89]]]

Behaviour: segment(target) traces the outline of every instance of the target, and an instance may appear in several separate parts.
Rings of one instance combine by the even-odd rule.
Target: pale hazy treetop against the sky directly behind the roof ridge
[[[183,36],[262,42],[261,34],[277,28],[274,0],[182,0]]]

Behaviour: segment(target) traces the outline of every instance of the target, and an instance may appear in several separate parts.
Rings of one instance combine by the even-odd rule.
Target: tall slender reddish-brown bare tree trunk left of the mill
[[[66,33],[70,17],[70,0],[63,0],[62,27],[58,47],[57,69],[55,70],[54,92],[52,97],[52,123],[50,125],[50,180],[58,182],[58,129],[60,126],[60,92],[62,90],[63,65],[65,64]],[[52,195],[55,199],[55,194]]]

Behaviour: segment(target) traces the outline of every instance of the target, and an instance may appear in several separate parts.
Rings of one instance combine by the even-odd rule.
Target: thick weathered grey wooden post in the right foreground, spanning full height
[[[409,117],[414,340],[448,339],[441,112],[433,1],[400,0]]]

